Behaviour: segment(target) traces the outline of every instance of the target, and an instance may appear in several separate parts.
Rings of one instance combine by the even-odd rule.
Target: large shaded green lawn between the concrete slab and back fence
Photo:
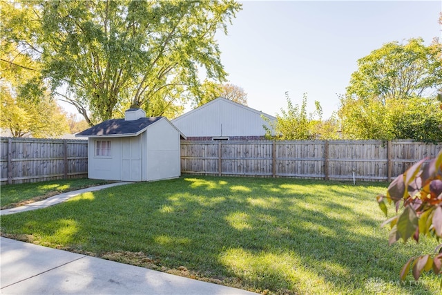
[[[387,183],[182,177],[1,218],[3,236],[273,294],[439,294],[409,275],[430,239],[388,246]],[[394,211],[394,210],[390,210]]]

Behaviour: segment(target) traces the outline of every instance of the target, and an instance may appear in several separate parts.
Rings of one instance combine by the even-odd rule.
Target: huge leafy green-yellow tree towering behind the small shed
[[[3,21],[3,27],[21,27],[3,30],[8,42],[41,61],[41,73],[55,93],[66,86],[66,93],[57,94],[89,124],[127,106],[152,115],[161,113],[153,106],[179,106],[182,97],[198,97],[199,68],[209,79],[224,81],[215,32],[227,32],[241,8],[233,0],[21,1],[10,6],[31,14],[32,21]]]

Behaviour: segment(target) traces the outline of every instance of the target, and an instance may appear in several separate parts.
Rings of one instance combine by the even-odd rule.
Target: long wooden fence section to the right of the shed
[[[181,171],[334,180],[392,180],[441,144],[395,140],[181,142]]]

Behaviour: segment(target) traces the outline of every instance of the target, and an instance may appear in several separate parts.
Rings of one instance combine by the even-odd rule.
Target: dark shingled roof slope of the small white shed
[[[147,126],[157,122],[162,117],[142,117],[138,120],[126,121],[124,119],[111,119],[77,133],[77,137],[95,136],[135,136],[142,133]]]

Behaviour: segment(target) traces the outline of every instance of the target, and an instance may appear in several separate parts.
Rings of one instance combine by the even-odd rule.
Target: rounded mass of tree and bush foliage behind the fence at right
[[[343,138],[442,140],[442,44],[390,42],[358,60],[338,115]]]

